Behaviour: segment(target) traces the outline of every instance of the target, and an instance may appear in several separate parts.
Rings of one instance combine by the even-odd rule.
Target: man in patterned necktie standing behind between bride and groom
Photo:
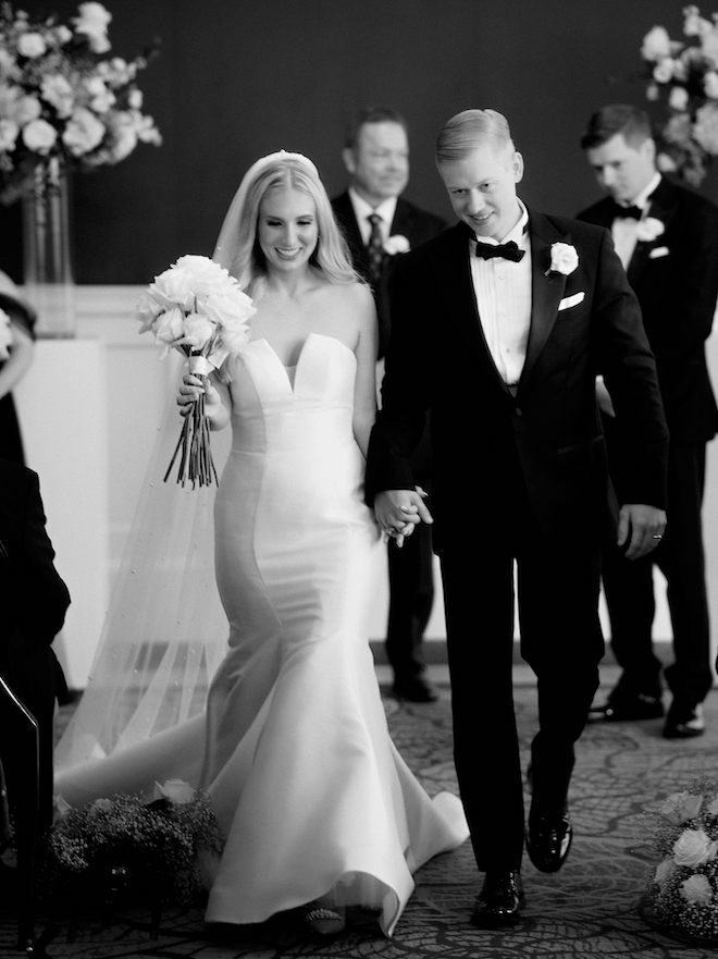
[[[357,271],[376,300],[380,359],[389,340],[387,283],[400,254],[445,229],[446,222],[404,199],[409,179],[407,123],[394,110],[368,107],[349,126],[342,153],[349,188],[332,205],[349,244]],[[418,485],[431,488],[429,431],[412,465]],[[436,693],[424,678],[421,653],[434,601],[431,529],[422,524],[401,550],[388,544],[389,612],[386,654],[394,671],[393,692],[412,702],[432,702]]]

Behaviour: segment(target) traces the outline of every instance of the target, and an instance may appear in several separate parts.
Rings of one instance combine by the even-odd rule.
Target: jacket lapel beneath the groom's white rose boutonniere
[[[550,247],[554,243],[571,243],[543,213],[529,211],[531,236],[531,328],[527,358],[523,364],[519,391],[531,376],[541,351],[546,345],[558,315],[558,305],[566,290],[566,276],[549,271]]]

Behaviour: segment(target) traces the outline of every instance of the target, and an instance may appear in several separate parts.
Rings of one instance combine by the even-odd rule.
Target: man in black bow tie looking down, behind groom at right
[[[652,642],[655,563],[668,581],[673,627],[674,661],[664,671],[672,693],[664,736],[690,738],[705,729],[701,703],[713,685],[701,507],[706,444],[718,430],[705,355],[718,294],[718,208],[660,175],[643,110],[604,107],[589,121],[581,146],[609,196],[579,219],[611,231],[641,304],[670,431],[666,538],[640,560],[629,561],[617,549],[604,557],[611,648],[623,672],[592,717],[664,715],[661,663]],[[597,391],[620,499],[630,482],[624,476],[626,451],[601,379]]]

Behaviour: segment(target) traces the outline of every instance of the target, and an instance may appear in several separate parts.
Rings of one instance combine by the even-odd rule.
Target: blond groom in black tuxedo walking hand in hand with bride
[[[472,922],[516,925],[524,811],[511,664],[513,564],[521,653],[537,677],[525,841],[555,872],[571,843],[567,796],[604,652],[602,546],[646,555],[665,526],[668,432],[641,311],[609,233],[529,210],[506,119],[467,110],[436,162],[460,222],[397,263],[383,409],[368,495],[400,538],[432,522],[408,464],[431,409],[455,760],[479,869]],[[630,451],[617,504],[594,381]],[[620,512],[619,512],[620,506]]]

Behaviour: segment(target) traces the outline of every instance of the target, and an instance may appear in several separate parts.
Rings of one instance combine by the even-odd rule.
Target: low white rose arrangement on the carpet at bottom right
[[[718,783],[700,778],[646,815],[655,863],[646,906],[667,930],[718,942]]]

